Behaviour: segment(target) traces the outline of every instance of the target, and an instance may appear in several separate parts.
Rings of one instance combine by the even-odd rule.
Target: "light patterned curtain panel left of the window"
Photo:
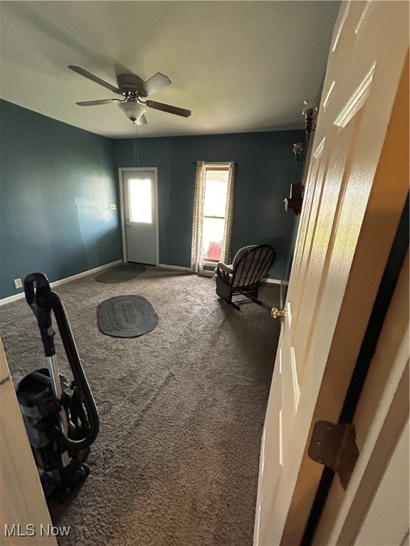
[[[205,161],[196,164],[194,220],[192,222],[191,269],[195,273],[204,269],[202,233],[204,229]]]

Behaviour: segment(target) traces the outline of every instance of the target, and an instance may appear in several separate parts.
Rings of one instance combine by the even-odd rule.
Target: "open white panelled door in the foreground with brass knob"
[[[407,2],[354,1],[335,26],[263,430],[254,545],[300,544],[322,473],[307,455],[311,427],[339,418],[409,191],[408,144],[389,127],[408,18]]]

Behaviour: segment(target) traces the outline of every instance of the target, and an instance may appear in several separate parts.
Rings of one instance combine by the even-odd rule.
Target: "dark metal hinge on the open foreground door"
[[[342,487],[346,489],[359,456],[354,425],[317,421],[310,438],[308,455],[313,461],[329,466],[339,474]]]

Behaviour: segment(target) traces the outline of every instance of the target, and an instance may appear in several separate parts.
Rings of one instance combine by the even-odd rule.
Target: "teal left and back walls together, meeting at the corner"
[[[164,114],[166,115],[166,114]],[[0,100],[0,298],[13,279],[51,282],[122,258],[117,168],[158,168],[159,262],[189,267],[196,161],[236,161],[232,253],[271,243],[283,279],[295,215],[283,199],[300,172],[303,131],[112,140]],[[110,210],[117,203],[117,210]]]

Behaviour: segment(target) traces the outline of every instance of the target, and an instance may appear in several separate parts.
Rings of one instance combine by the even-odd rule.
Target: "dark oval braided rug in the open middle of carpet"
[[[115,296],[98,305],[102,333],[115,338],[136,338],[157,326],[158,315],[142,296]]]

